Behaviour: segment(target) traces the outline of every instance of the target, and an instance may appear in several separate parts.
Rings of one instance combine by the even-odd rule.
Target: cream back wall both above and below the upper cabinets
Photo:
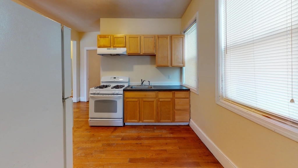
[[[181,19],[100,19],[101,34],[181,34]],[[168,79],[168,74],[171,79]],[[101,76],[128,76],[131,82],[181,82],[181,68],[156,68],[155,56],[101,56]]]

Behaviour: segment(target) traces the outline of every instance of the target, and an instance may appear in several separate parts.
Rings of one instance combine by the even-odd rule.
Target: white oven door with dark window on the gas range
[[[123,94],[90,94],[89,118],[123,118]]]

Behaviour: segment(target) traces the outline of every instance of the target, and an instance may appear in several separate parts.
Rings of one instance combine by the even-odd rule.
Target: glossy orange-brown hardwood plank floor
[[[74,103],[74,167],[222,167],[190,126],[89,126]]]

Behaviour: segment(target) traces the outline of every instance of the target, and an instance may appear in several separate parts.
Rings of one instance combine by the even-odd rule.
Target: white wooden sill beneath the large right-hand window
[[[287,138],[290,138],[291,140],[295,140],[298,142],[298,128],[289,126],[285,123],[279,122],[277,120],[265,117],[261,114],[257,114],[255,112],[249,111],[247,109],[241,108],[237,105],[234,105],[232,103],[229,103],[225,100],[218,100],[216,104],[241,115],[242,117],[245,117],[261,126],[264,126],[274,132],[279,133],[280,135],[283,135]]]

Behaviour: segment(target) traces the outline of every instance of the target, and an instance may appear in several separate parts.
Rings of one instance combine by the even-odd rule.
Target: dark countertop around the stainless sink
[[[123,91],[190,91],[189,88],[182,85],[153,85],[154,89],[128,89],[129,86]]]

